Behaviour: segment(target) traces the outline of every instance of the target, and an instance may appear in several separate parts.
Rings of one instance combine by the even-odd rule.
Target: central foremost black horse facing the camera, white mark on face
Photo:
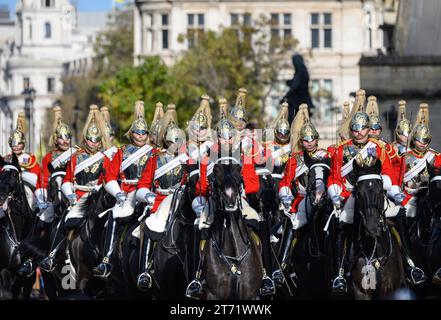
[[[263,278],[261,244],[241,212],[241,167],[216,164],[209,198],[213,223],[203,254],[206,299],[256,299]]]

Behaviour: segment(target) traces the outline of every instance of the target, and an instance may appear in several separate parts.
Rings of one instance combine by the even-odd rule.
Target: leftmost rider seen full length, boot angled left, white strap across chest
[[[110,156],[103,152],[110,147],[106,130],[98,107],[91,105],[84,125],[82,148],[67,163],[66,175],[61,185],[61,191],[68,199],[70,207],[64,221],[58,226],[52,251],[40,263],[40,267],[46,272],[55,269],[56,254],[66,239],[66,232],[77,229],[84,221],[87,198],[102,187],[104,159]]]

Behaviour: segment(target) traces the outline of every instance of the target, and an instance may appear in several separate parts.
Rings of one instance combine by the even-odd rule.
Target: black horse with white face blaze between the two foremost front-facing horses
[[[308,167],[304,199],[306,225],[295,230],[294,243],[287,248],[288,265],[284,273],[286,281],[278,291],[283,298],[327,298],[326,234],[323,229],[330,212],[330,201],[326,192],[330,159],[312,158],[305,153],[304,161]],[[281,243],[291,239],[289,234],[293,232],[292,223],[286,216],[283,230],[279,241]],[[279,255],[283,257],[283,253],[279,252]]]

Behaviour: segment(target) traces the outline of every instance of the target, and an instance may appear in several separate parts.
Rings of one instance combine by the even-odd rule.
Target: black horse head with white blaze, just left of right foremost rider
[[[312,195],[313,205],[324,205],[326,199],[326,184],[331,171],[331,159],[312,158],[308,152],[304,153],[305,165],[308,167],[307,192]]]

